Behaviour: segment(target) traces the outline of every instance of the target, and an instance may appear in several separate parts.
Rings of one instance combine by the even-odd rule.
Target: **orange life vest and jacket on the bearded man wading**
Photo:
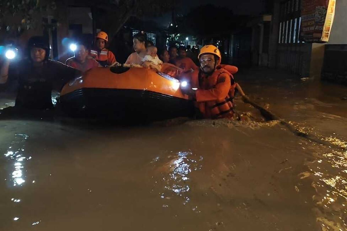
[[[207,77],[199,70],[192,74],[192,87],[198,88],[196,106],[205,118],[232,117],[235,86],[234,77],[223,68]]]

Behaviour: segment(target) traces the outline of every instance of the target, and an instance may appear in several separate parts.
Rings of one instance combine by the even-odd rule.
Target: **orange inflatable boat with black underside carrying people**
[[[69,115],[159,120],[191,116],[194,106],[179,80],[137,67],[94,68],[67,83],[60,105]]]

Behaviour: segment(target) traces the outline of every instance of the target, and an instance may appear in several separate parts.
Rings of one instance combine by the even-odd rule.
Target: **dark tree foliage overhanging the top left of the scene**
[[[173,6],[174,0],[0,0],[0,29],[30,29],[40,12],[59,15],[68,5],[90,7],[98,28],[112,39],[131,16],[158,16]],[[59,18],[58,18],[59,22]],[[39,23],[42,23],[41,21]]]

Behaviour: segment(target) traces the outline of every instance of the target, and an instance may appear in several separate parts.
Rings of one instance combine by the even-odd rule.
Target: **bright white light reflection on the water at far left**
[[[25,182],[24,160],[31,159],[31,157],[27,158],[23,155],[25,151],[24,142],[28,137],[25,134],[15,134],[15,140],[11,142],[7,153],[4,154],[5,157],[14,160],[14,171],[12,171],[13,186],[22,185]]]

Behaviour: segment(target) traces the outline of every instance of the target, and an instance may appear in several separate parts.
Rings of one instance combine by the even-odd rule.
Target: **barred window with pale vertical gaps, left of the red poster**
[[[278,43],[300,43],[300,3],[301,0],[284,0],[280,3]]]

